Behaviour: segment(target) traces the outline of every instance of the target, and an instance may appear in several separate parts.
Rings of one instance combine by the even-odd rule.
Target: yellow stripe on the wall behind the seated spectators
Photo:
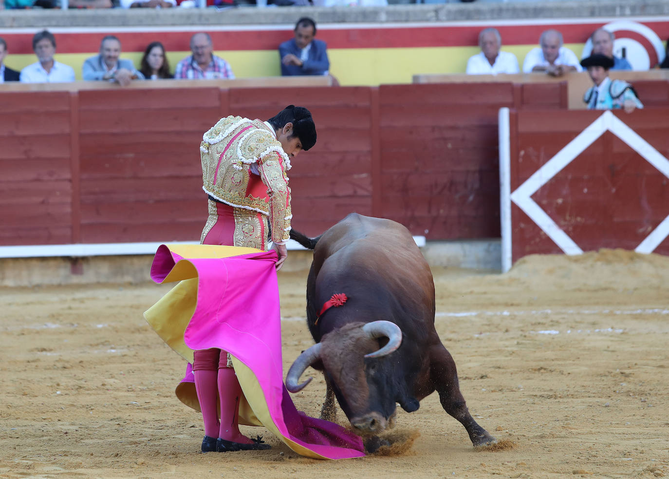
[[[581,56],[583,44],[566,44],[567,48]],[[512,45],[502,47],[518,58],[522,69],[525,55],[535,45]],[[379,84],[411,83],[417,74],[464,73],[467,60],[479,52],[476,46],[429,47],[429,48],[341,48],[328,50],[330,73],[343,86],[377,86]],[[168,52],[171,70],[190,52]],[[258,76],[280,76],[279,54],[276,50],[229,50],[217,51],[225,58],[237,78]],[[77,80],[81,80],[82,64],[93,54],[56,54],[56,60],[74,68]],[[141,52],[122,54],[139,66]],[[21,70],[36,61],[34,55],[9,55],[5,64],[14,70]]]

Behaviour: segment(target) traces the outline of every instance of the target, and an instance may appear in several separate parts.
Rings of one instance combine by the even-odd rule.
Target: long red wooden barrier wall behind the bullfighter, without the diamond
[[[267,119],[290,104],[308,106],[318,127],[289,173],[296,228],[316,235],[357,211],[429,239],[499,236],[497,111],[564,108],[564,88],[3,92],[0,244],[197,240],[203,132],[225,115]]]

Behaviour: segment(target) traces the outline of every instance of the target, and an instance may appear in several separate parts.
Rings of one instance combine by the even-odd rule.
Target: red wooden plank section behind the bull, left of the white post
[[[382,216],[428,239],[499,236],[497,112],[510,83],[379,87]]]

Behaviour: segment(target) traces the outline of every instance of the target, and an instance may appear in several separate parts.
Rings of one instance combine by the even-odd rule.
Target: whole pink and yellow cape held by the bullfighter
[[[265,426],[302,456],[363,457],[360,437],[297,411],[286,391],[275,261],[274,251],[253,248],[161,245],[151,279],[179,283],[144,316],[189,363],[193,350],[220,348],[230,353],[244,393],[240,423]],[[187,379],[176,392],[199,410],[195,388]]]

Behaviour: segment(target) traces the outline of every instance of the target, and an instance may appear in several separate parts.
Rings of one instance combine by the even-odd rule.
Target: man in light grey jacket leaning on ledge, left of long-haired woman
[[[128,86],[132,80],[144,79],[130,60],[118,58],[121,42],[113,35],[102,38],[100,54],[87,58],[82,66],[84,80],[106,80]]]

